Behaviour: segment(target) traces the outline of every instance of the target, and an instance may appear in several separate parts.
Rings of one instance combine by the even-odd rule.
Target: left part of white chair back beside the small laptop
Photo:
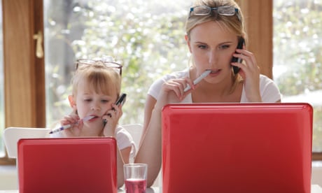
[[[50,129],[29,127],[8,127],[3,131],[3,141],[7,148],[8,157],[17,158],[17,143],[20,138],[45,138]]]

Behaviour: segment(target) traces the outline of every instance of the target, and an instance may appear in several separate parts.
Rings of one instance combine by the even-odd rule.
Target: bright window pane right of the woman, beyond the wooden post
[[[322,152],[322,1],[274,0],[274,80],[284,102],[314,107],[313,151]]]

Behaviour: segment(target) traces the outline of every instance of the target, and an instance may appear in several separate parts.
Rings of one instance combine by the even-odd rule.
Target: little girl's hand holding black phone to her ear
[[[102,116],[103,120],[106,120],[105,127],[103,128],[103,135],[104,136],[116,136],[115,131],[118,125],[118,120],[123,115],[122,104],[112,105],[112,109],[106,111],[106,113]]]

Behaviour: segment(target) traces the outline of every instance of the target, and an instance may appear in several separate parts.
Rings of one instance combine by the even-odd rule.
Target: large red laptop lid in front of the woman
[[[162,189],[310,192],[307,103],[169,104],[162,110]]]

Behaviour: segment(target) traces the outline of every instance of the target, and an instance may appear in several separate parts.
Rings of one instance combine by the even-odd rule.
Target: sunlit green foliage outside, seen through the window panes
[[[184,25],[191,3],[45,0],[48,124],[71,110],[66,99],[76,59],[103,55],[124,66],[128,97],[120,123],[143,123],[153,81],[188,67]],[[285,98],[322,90],[321,9],[321,1],[274,1],[274,80]],[[314,106],[314,151],[322,151],[321,103]]]

